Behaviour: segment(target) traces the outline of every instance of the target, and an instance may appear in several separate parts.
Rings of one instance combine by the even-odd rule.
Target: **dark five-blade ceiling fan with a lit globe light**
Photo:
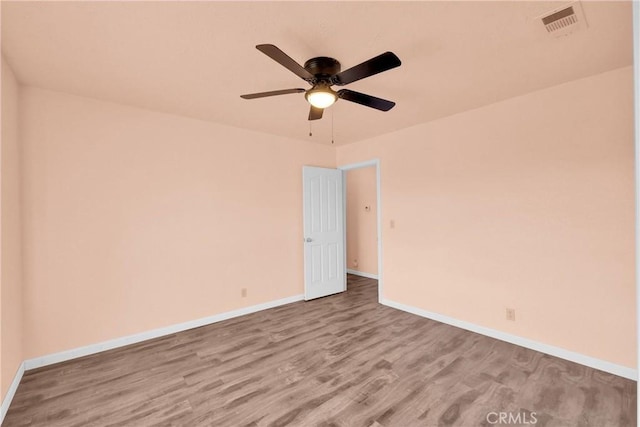
[[[324,109],[333,105],[338,99],[355,102],[381,111],[389,111],[396,105],[395,102],[349,89],[340,89],[337,92],[331,89],[333,85],[344,86],[364,79],[365,77],[370,77],[374,74],[399,67],[401,64],[400,59],[393,52],[385,52],[362,64],[358,64],[341,72],[340,62],[326,56],[311,58],[304,63],[303,67],[272,44],[259,44],[256,46],[256,49],[305,80],[312,87],[311,89],[296,88],[250,93],[240,95],[241,98],[255,99],[305,92],[304,96],[309,104],[311,104],[309,120],[321,119]]]

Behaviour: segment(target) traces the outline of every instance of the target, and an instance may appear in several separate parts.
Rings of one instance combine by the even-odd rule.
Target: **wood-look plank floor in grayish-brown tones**
[[[633,381],[348,289],[29,371],[3,426],[636,425]]]

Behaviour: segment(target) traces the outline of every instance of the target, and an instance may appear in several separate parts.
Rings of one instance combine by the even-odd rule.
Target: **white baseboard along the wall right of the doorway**
[[[584,354],[575,353],[573,351],[565,350],[560,347],[544,344],[541,342],[533,341],[527,338],[522,338],[517,335],[508,334],[495,329],[486,328],[464,320],[454,319],[453,317],[445,316],[438,313],[433,313],[421,308],[412,307],[399,302],[391,301],[383,298],[380,303],[388,307],[396,308],[398,310],[406,311],[407,313],[416,314],[427,319],[435,320],[437,322],[446,323],[447,325],[456,326],[458,328],[466,329],[471,332],[475,332],[481,335],[486,335],[491,338],[495,338],[501,341],[506,341],[511,344],[519,345],[531,350],[539,351],[541,353],[549,354],[551,356],[559,357],[561,359],[569,360],[571,362],[579,363],[590,368],[598,369],[601,371],[609,372],[620,377],[628,378],[630,380],[638,380],[638,371],[636,369],[628,368],[626,366],[617,365],[615,363],[607,362],[606,360],[596,359],[595,357],[585,356]]]

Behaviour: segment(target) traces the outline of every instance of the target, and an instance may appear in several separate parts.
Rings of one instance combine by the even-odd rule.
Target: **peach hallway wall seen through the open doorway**
[[[376,168],[347,171],[347,268],[378,274]],[[369,207],[369,210],[365,209]]]

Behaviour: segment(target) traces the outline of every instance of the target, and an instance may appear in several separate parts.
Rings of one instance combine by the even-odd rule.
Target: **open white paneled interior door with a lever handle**
[[[302,167],[304,299],[344,292],[342,171]]]

